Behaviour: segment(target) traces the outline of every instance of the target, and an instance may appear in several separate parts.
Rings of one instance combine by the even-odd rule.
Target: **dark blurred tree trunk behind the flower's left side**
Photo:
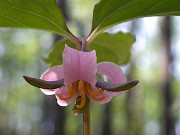
[[[66,12],[66,0],[57,0],[56,2],[67,21],[68,15]],[[63,37],[59,35],[55,35],[55,42],[62,38]],[[46,135],[65,135],[65,108],[57,104],[57,100],[54,96],[46,97],[44,100],[44,133]]]

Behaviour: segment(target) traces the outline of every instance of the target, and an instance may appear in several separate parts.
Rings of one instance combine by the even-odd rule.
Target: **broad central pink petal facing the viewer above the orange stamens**
[[[77,80],[96,84],[96,52],[78,51],[65,46],[63,52],[64,84],[70,86]]]

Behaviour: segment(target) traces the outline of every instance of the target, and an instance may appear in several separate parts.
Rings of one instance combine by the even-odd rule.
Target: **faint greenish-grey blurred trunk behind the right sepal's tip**
[[[139,20],[134,20],[131,23],[131,33],[136,35],[139,30]],[[128,80],[134,80],[134,73],[136,70],[135,67],[135,59],[134,57],[131,58],[130,61],[130,69],[128,73]],[[141,135],[143,134],[143,121],[141,115],[141,107],[137,103],[138,91],[135,90],[136,88],[132,88],[131,90],[127,91],[127,96],[125,100],[125,114],[126,114],[126,131],[125,135]]]

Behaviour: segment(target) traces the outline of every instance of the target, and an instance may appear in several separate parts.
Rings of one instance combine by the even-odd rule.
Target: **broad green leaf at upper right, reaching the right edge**
[[[180,15],[180,0],[101,0],[93,13],[91,42],[105,29],[147,16]]]

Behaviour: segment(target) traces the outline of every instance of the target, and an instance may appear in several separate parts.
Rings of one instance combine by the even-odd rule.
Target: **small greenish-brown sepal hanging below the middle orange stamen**
[[[77,108],[77,105],[79,105],[81,103],[81,96],[78,96],[76,98],[76,103],[72,109],[72,113],[74,115],[78,115],[78,114],[83,114],[84,112],[87,111],[88,109],[88,106],[89,106],[89,103],[90,103],[90,100],[88,97],[86,97],[86,103],[85,103],[85,106],[83,108]]]

